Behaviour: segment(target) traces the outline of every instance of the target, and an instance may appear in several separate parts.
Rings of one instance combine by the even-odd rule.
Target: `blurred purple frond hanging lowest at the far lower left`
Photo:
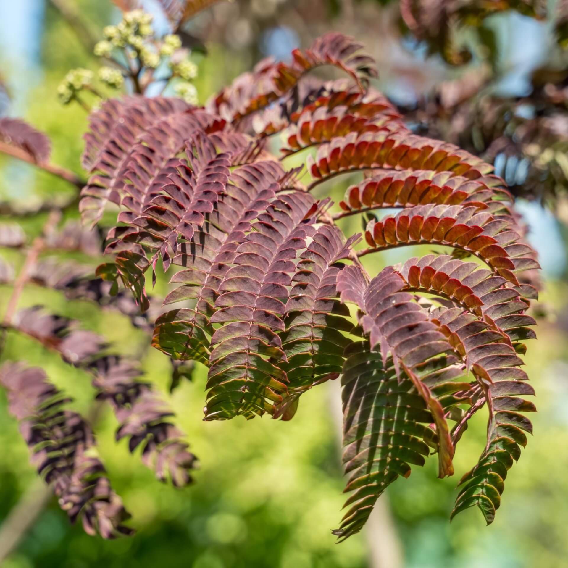
[[[105,475],[91,428],[64,408],[70,399],[43,370],[20,363],[0,368],[0,384],[8,391],[10,413],[20,420],[32,463],[69,519],[80,518],[85,532],[103,538],[132,534],[123,524],[130,515]]]

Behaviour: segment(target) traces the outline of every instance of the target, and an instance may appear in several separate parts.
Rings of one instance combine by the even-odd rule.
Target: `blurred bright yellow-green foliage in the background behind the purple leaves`
[[[111,17],[106,2],[83,1],[84,15],[93,28]],[[43,76],[28,97],[24,118],[52,137],[53,161],[80,172],[85,112],[62,107],[56,87],[65,72],[89,67],[90,60],[65,23],[47,12],[42,40]],[[201,62],[196,85],[201,100],[243,69],[233,53],[212,45]],[[0,196],[43,198],[69,191],[47,174],[26,165],[0,161]],[[14,172],[27,171],[23,186],[14,187]],[[17,177],[17,176],[16,176]],[[346,185],[346,182],[345,182]],[[345,185],[337,187],[341,197]],[[42,216],[28,220],[28,234],[39,232]],[[357,229],[358,220],[349,219]],[[25,224],[25,223],[24,223]],[[27,227],[30,228],[30,227]],[[2,256],[6,256],[4,250]],[[401,253],[395,253],[401,254]],[[402,251],[412,256],[412,249]],[[17,258],[10,258],[17,261]],[[381,257],[382,262],[393,258]],[[373,270],[380,266],[377,259]],[[162,281],[159,286],[164,288]],[[0,287],[0,309],[7,301]],[[548,282],[543,302],[552,312],[566,310],[565,282]],[[158,293],[160,289],[158,289]],[[156,350],[144,351],[144,337],[126,318],[100,312],[87,302],[69,303],[60,294],[30,287],[21,307],[45,303],[51,310],[80,319],[86,328],[112,341],[119,352],[139,357],[149,379],[164,396],[170,364]],[[415,467],[400,479],[388,496],[408,568],[563,568],[568,539],[568,338],[553,321],[542,321],[538,346],[529,345],[527,371],[537,390],[535,437],[507,479],[503,505],[491,528],[477,510],[448,522],[458,477],[474,465],[485,443],[485,414],[472,421],[456,454],[456,477],[436,478],[436,460]],[[32,341],[10,335],[5,359],[40,365],[57,386],[65,389],[85,411],[93,396],[90,379],[80,370]],[[191,450],[201,458],[195,486],[176,490],[156,482],[153,473],[116,444],[116,421],[109,410],[99,419],[100,452],[110,478],[132,512],[138,533],[133,538],[102,541],[71,527],[56,503],[45,509],[19,549],[3,568],[363,568],[368,565],[365,534],[340,546],[329,533],[343,503],[339,442],[330,411],[330,389],[320,386],[302,397],[298,414],[289,423],[269,419],[204,423],[201,420],[206,373],[199,367],[194,382],[183,382],[170,402],[179,425],[188,433]],[[335,391],[336,392],[336,391]],[[16,421],[6,412],[0,393],[0,524],[36,478],[28,462],[27,446]],[[1,526],[0,526],[1,530]],[[373,538],[373,536],[370,536]],[[389,568],[389,567],[384,567]]]

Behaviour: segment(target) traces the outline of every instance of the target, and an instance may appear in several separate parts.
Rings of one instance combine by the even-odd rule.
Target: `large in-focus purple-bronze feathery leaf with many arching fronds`
[[[174,23],[183,19],[181,1],[163,4]],[[453,8],[434,4],[432,26],[444,24],[437,39],[456,62],[467,54],[448,36]],[[423,7],[401,3],[408,27],[433,40]],[[304,78],[320,65],[349,79]],[[533,391],[520,354],[534,337],[527,311],[538,296],[526,271],[539,265],[512,196],[478,156],[411,132],[369,87],[375,74],[362,45],[334,32],[295,50],[291,63],[261,61],[207,111],[163,97],[108,101],[91,117],[84,156],[99,173],[83,190],[83,216],[96,221],[108,202],[121,208],[106,247],[115,261],[87,290],[96,295],[104,284],[121,294],[122,282],[144,310],[149,266],[181,267],[164,302],[174,309],[156,320],[153,345],[172,358],[173,387],[186,362],[208,367],[205,420],[290,420],[305,391],[341,375],[352,492],[334,531],[341,540],[429,453],[440,477],[452,475],[456,444],[481,408],[490,415],[487,445],[452,516],[475,505],[491,522],[532,432],[521,413],[534,410],[523,398]],[[278,132],[286,144],[275,161],[268,137]],[[300,169],[283,164],[310,147],[305,186]],[[354,173],[363,179],[339,213],[312,197],[320,183]],[[374,214],[383,208],[400,211]],[[365,214],[363,250],[335,225],[356,214]],[[374,277],[362,268],[366,254],[419,244],[453,250],[429,250]],[[85,289],[79,272],[56,282],[66,293]],[[68,326],[50,333],[57,345],[70,335]],[[115,407],[118,437],[140,447],[158,477],[168,471],[176,485],[189,482],[193,454],[136,366],[89,350],[84,357],[99,397]]]

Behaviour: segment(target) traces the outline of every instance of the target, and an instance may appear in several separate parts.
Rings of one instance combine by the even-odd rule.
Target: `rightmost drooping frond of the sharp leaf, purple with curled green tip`
[[[491,321],[500,313],[508,314],[509,309],[503,308],[507,303],[500,302],[503,290],[506,289],[497,289],[482,296],[488,306],[483,308],[484,319]],[[509,300],[509,304],[513,303]],[[521,446],[524,448],[527,445],[524,432],[532,433],[531,421],[520,412],[534,411],[536,408],[532,402],[520,397],[533,395],[534,390],[526,382],[527,373],[519,369],[523,361],[515,349],[499,341],[499,338],[496,343],[496,332],[489,324],[480,325],[479,320],[469,318],[456,309],[440,310],[434,315],[449,340],[467,354],[467,361],[481,381],[490,415],[486,448],[477,465],[462,477],[460,485],[463,487],[456,498],[451,518],[469,507],[477,506],[487,524],[490,524],[501,502],[507,471],[519,460]],[[504,329],[513,340],[528,339],[534,337],[534,333],[525,327],[534,323],[531,320],[529,316],[509,314],[495,318],[494,325]],[[509,323],[513,327],[509,327]]]

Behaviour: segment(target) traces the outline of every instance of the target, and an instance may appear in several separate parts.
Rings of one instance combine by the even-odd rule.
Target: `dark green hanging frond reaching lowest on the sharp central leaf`
[[[374,504],[399,475],[407,478],[410,465],[424,465],[424,457],[437,448],[433,416],[413,383],[400,381],[392,364],[358,341],[345,351],[341,377],[343,399],[343,462],[354,491],[340,528],[340,540],[356,534],[366,523]]]

